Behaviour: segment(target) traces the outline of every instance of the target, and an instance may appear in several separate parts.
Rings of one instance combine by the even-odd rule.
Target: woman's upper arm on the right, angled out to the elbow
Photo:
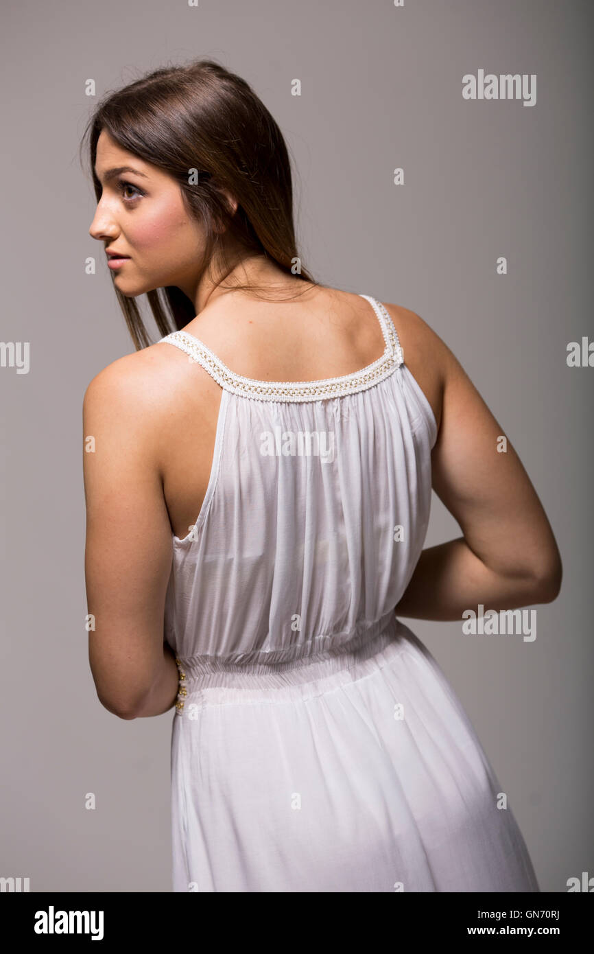
[[[502,426],[461,363],[432,332],[442,372],[433,488],[481,561],[559,591],[562,563],[543,506]]]

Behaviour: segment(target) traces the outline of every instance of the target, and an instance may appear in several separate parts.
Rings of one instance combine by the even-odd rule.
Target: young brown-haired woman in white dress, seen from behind
[[[90,661],[117,716],[174,709],[174,890],[538,891],[400,621],[559,592],[502,428],[418,315],[303,267],[285,143],[238,76],[158,70],[87,134],[136,347],[84,400]],[[422,550],[432,486],[463,535]]]

